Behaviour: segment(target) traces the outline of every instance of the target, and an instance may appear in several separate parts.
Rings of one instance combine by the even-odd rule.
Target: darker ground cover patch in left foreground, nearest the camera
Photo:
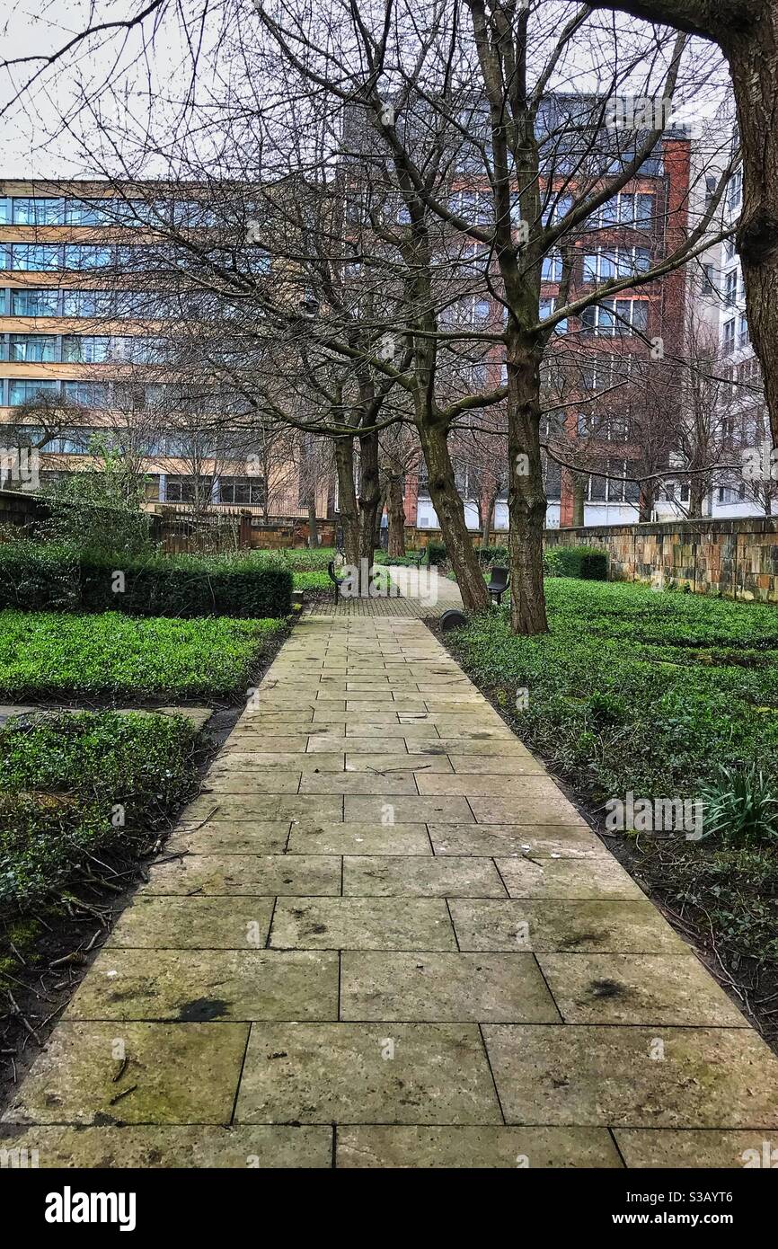
[[[106,858],[147,852],[196,788],[199,742],[182,716],[142,712],[35,712],[0,729],[0,975],[29,962],[41,912],[72,913],[121,876]]]

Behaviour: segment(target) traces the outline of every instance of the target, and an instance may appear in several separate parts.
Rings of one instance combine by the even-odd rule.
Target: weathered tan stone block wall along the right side
[[[778,603],[774,517],[546,530],[544,542],[607,551],[612,581],[688,583],[697,593]]]

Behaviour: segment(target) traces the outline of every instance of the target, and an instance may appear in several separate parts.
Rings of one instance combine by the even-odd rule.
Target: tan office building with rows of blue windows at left
[[[196,296],[147,271],[164,220],[207,230],[207,194],[0,181],[0,448],[36,448],[45,482],[94,470],[99,437],[137,465],[150,510],[305,517],[297,443],[268,457],[230,427],[236,396],[195,396],[171,366],[170,326],[195,315]],[[325,517],[331,483],[318,477]]]

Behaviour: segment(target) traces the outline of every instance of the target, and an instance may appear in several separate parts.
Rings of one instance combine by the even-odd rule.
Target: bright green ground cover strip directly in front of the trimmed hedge
[[[239,698],[283,621],[0,612],[0,699]]]

